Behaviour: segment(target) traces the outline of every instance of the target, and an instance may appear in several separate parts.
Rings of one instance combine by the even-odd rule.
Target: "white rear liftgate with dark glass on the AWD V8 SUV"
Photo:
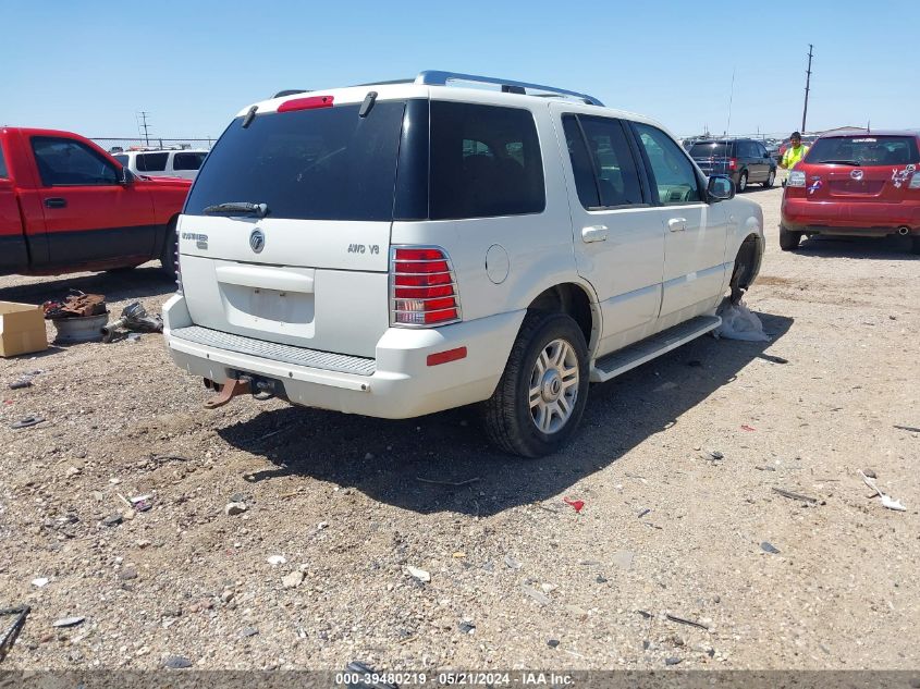
[[[231,123],[180,219],[182,285],[204,328],[373,357],[406,101],[326,98]]]

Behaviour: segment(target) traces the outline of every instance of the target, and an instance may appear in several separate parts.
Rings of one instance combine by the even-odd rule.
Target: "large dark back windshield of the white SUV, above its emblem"
[[[267,204],[272,218],[391,220],[404,102],[236,119],[195,179],[185,212]]]

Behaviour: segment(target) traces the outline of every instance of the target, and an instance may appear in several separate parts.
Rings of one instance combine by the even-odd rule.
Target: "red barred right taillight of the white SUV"
[[[394,247],[390,254],[390,324],[446,325],[461,320],[451,259],[438,247]]]

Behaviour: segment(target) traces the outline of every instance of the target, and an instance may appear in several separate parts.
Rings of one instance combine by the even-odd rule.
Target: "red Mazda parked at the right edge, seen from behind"
[[[789,173],[780,247],[802,235],[912,237],[920,254],[920,134],[860,132],[822,136]]]

